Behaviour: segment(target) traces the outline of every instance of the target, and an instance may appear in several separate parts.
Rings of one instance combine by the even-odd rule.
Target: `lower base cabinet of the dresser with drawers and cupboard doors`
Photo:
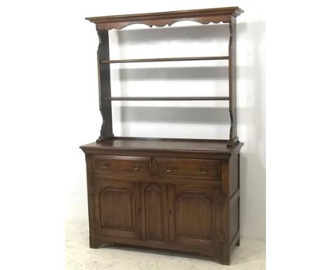
[[[122,243],[182,250],[229,264],[239,240],[241,146],[117,137],[81,146],[91,247]]]

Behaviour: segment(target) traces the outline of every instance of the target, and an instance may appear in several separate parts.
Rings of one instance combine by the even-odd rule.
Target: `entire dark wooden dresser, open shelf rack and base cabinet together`
[[[86,154],[90,247],[119,243],[194,252],[230,264],[240,243],[240,148],[236,115],[238,7],[86,18],[99,36],[99,102],[103,124]],[[181,20],[228,23],[228,56],[110,59],[108,30],[134,23],[158,27]],[[110,64],[228,60],[225,97],[112,97]],[[112,100],[228,100],[227,140],[116,137]]]

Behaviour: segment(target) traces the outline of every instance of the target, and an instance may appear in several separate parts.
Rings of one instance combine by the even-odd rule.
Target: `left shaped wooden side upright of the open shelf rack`
[[[105,100],[111,97],[110,88],[110,64],[101,61],[110,59],[108,30],[97,30],[99,37],[98,46],[98,85],[99,85],[99,108],[103,117],[103,124],[97,142],[104,141],[114,136],[112,133],[112,102]]]

